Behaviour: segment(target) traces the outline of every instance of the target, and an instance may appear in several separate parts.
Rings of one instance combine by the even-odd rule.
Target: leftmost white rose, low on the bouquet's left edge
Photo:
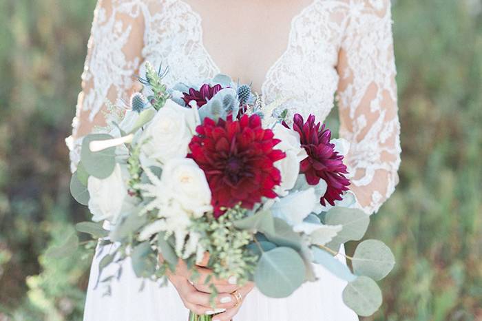
[[[92,220],[109,220],[115,224],[127,196],[121,165],[116,164],[114,172],[105,179],[90,176],[87,189],[90,194],[89,209],[93,215]]]

